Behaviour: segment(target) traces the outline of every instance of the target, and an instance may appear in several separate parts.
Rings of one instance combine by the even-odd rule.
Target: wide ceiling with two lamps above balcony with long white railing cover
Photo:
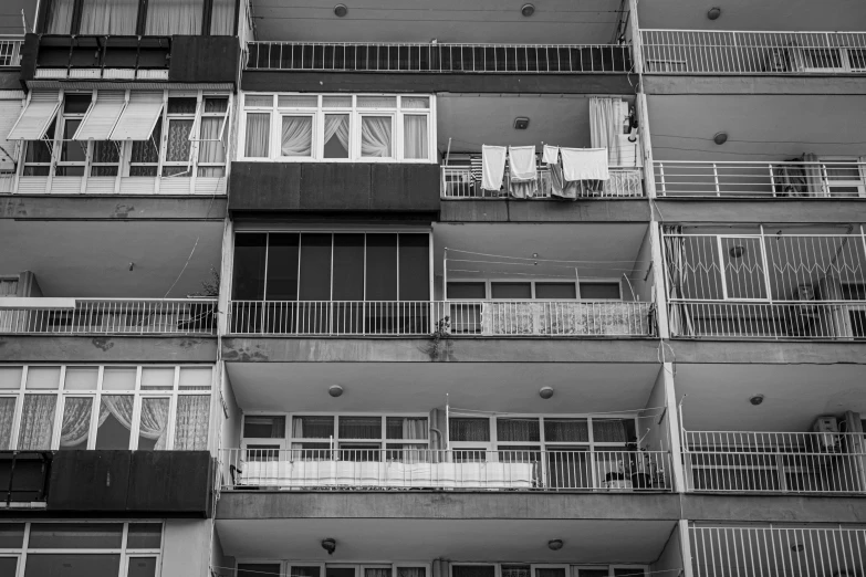
[[[451,407],[460,409],[628,411],[647,406],[658,375],[655,364],[609,363],[227,363],[227,367],[244,411],[426,413],[444,408],[446,394]],[[342,397],[327,395],[332,385],[344,388]],[[539,397],[544,385],[554,388],[552,400]]]

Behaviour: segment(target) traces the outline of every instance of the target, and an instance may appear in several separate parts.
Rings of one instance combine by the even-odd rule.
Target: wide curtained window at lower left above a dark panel
[[[211,367],[0,369],[0,447],[6,449],[208,448]]]

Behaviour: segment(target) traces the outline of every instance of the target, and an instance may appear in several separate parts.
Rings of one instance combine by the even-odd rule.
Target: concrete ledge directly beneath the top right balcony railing
[[[646,94],[866,94],[866,76],[644,74]]]

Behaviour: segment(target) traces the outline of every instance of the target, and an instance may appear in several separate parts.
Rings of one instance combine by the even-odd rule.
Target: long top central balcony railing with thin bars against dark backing
[[[628,45],[248,42],[247,70],[598,74],[632,70]]]

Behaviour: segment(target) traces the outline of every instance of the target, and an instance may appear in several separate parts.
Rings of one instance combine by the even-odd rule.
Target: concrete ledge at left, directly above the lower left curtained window
[[[0,335],[8,363],[216,363],[216,337]]]

